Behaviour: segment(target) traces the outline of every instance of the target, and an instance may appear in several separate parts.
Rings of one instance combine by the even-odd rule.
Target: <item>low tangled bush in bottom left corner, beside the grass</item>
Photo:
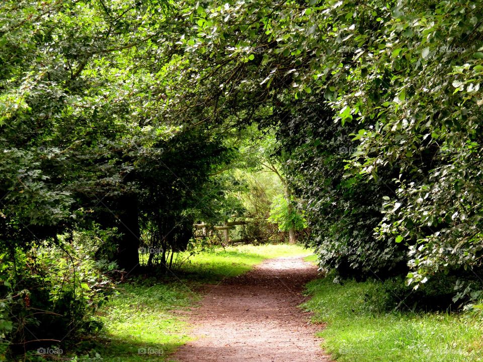
[[[93,232],[76,232],[1,255],[0,360],[39,348],[65,351],[73,337],[102,327],[94,312],[113,291],[116,267],[95,258],[102,243]]]

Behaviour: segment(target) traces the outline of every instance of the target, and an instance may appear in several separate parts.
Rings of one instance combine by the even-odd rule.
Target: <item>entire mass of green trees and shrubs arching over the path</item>
[[[38,325],[28,300],[52,312],[82,300],[88,310],[94,294],[79,292],[114,269],[135,273],[140,246],[162,249],[166,268],[170,253],[197,242],[194,223],[246,210],[240,190],[265,197],[249,207],[262,205],[265,222],[267,193],[244,189],[234,171],[258,172],[263,160],[285,188],[271,220],[308,226],[303,241],[321,267],[402,275],[416,289],[441,281],[455,301],[478,298],[482,9],[5,0],[0,336],[26,343],[19,326]],[[90,253],[99,275],[74,273],[63,289],[42,250]],[[75,329],[84,317],[65,318]]]

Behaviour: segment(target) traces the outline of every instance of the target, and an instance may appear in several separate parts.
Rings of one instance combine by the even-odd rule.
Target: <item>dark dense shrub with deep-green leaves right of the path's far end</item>
[[[404,271],[406,250],[394,239],[376,239],[381,222],[382,197],[390,177],[379,182],[361,175],[346,175],[351,133],[332,120],[322,100],[291,103],[280,112],[279,151],[285,173],[311,229],[307,244],[314,247],[320,264],[343,277],[387,278]]]

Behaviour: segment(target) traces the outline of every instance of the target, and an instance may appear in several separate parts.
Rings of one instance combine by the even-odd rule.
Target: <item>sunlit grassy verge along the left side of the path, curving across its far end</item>
[[[266,258],[306,255],[298,245],[243,245],[192,256],[177,277],[139,279],[119,286],[120,293],[101,312],[104,334],[89,356],[79,360],[160,362],[189,339],[189,325],[173,310],[193,307],[200,296],[193,287],[216,283],[250,270]]]

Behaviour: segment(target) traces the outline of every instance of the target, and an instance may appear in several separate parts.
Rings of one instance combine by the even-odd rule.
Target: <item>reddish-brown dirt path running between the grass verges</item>
[[[289,257],[266,260],[244,276],[209,286],[200,308],[187,317],[195,325],[172,356],[181,362],[328,362],[314,336],[317,327],[297,308],[305,283],[317,268]]]

